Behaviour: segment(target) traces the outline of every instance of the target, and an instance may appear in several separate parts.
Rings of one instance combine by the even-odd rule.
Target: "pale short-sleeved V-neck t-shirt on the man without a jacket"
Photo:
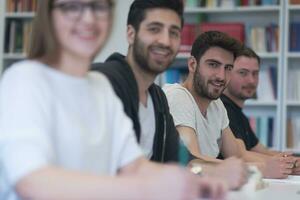
[[[180,84],[164,86],[175,126],[195,130],[203,155],[217,157],[221,149],[222,131],[229,126],[226,109],[220,99],[212,101],[206,117],[202,115],[192,94]]]

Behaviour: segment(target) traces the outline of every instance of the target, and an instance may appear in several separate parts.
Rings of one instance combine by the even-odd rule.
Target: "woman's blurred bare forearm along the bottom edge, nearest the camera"
[[[16,185],[23,199],[141,199],[137,178],[94,176],[47,167]],[[124,187],[126,185],[126,187]]]

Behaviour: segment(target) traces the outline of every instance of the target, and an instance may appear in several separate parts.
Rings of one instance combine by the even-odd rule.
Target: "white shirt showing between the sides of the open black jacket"
[[[155,135],[155,114],[151,95],[148,94],[147,106],[140,102],[139,118],[141,123],[140,146],[144,155],[150,159],[153,154],[153,142]]]

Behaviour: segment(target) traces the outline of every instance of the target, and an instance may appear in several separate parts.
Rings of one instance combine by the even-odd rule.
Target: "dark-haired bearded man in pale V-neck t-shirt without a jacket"
[[[264,170],[265,160],[255,152],[247,151],[234,137],[226,109],[219,99],[230,80],[241,47],[225,33],[209,31],[201,34],[188,59],[187,80],[182,85],[166,85],[164,91],[175,126],[193,155],[215,162],[220,162],[218,156],[237,156],[255,162]]]

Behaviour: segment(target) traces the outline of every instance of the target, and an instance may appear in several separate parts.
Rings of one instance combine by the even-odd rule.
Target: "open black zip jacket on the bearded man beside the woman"
[[[92,70],[105,74],[124,105],[125,113],[132,119],[137,140],[140,140],[139,93],[134,74],[121,54],[112,54],[105,63],[93,64]],[[151,160],[157,162],[178,161],[178,133],[162,89],[152,84],[149,93],[155,111],[155,136]],[[190,155],[189,155],[190,156]]]

